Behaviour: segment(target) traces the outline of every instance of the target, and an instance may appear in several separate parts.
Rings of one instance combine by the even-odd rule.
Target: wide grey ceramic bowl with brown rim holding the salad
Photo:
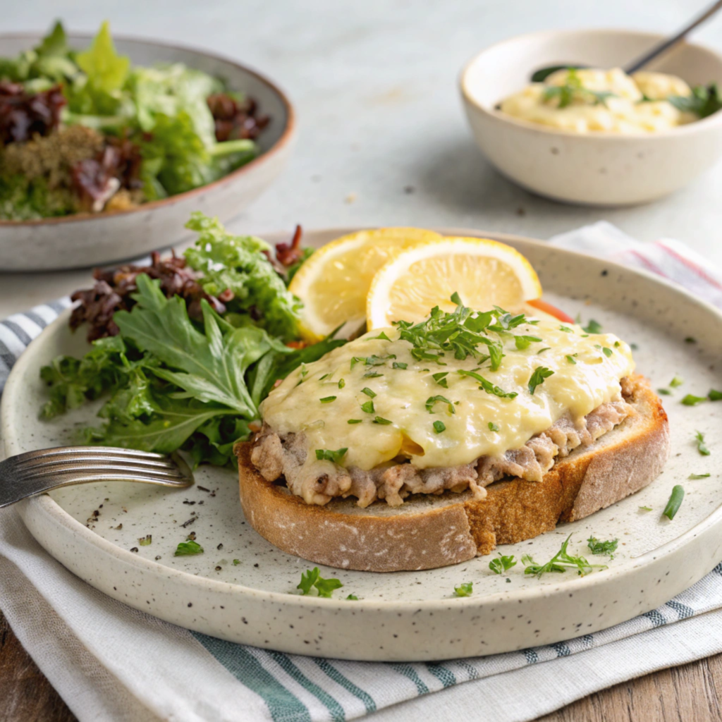
[[[32,47],[40,35],[0,35],[0,56]],[[70,35],[82,48],[90,35]],[[0,271],[40,271],[95,266],[142,256],[183,240],[193,211],[237,215],[281,173],[289,160],[295,134],[294,110],[282,90],[266,77],[235,61],[212,54],[163,45],[150,40],[114,38],[119,53],[134,64],[181,62],[224,78],[232,90],[254,97],[271,117],[258,138],[261,155],[219,181],[134,209],[104,214],[82,213],[35,221],[0,221]]]

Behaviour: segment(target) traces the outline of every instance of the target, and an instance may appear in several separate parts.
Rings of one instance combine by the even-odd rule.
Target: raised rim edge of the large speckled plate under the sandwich
[[[345,235],[348,232],[353,232],[354,230],[361,230],[361,228],[362,227],[357,226],[313,228],[305,230],[304,233],[307,238],[310,235],[318,234],[335,235],[337,233],[338,235]],[[502,242],[511,243],[521,242],[523,244],[536,246],[537,248],[544,248],[548,245],[547,241],[539,240],[536,238],[530,238],[527,236],[514,235],[503,232],[482,231],[469,227],[435,227],[431,230],[442,232],[445,235],[461,235],[461,233],[467,233],[477,238],[491,238],[493,240],[501,240]],[[285,238],[287,236],[287,233],[283,231],[274,231],[266,232],[264,233],[264,235],[269,237],[282,236]],[[657,274],[651,273],[651,271],[625,266],[623,264],[617,263],[616,261],[610,261],[606,258],[591,256],[588,253],[581,253],[580,251],[573,251],[568,248],[554,246],[554,250],[560,251],[563,254],[575,256],[577,258],[583,259],[583,261],[590,262],[592,264],[604,265],[608,269],[616,268],[627,273],[631,273],[632,275],[638,275],[645,279],[651,280],[653,283],[665,287],[667,292],[671,292],[673,295],[682,296],[686,300],[689,300],[692,303],[700,305],[706,310],[711,311],[722,322],[722,310],[716,308],[716,306],[708,303],[700,297],[695,296],[691,292],[684,289],[684,287],[679,286],[678,284],[674,284],[673,282],[668,281],[664,278],[661,278]],[[47,332],[49,329],[56,329],[58,326],[66,326],[67,318],[70,313],[71,309],[66,309],[58,316],[58,318],[56,318],[55,321],[48,324],[48,326],[43,329],[42,333],[40,333],[35,339],[32,340],[32,342],[30,342],[30,344],[28,344],[25,352],[22,353],[22,355],[19,357],[17,362],[15,362],[12,370],[10,371],[6,382],[5,391],[2,394],[0,400],[0,439],[4,443],[4,451],[6,456],[9,456],[11,453],[18,453],[19,451],[19,449],[14,448],[14,440],[9,437],[9,430],[11,430],[12,428],[12,412],[9,410],[9,407],[12,404],[12,399],[14,399],[14,396],[19,393],[18,391],[16,391],[16,388],[20,388],[21,386],[21,384],[19,383],[19,378],[22,375],[22,371],[30,363],[29,360],[31,355],[29,352],[31,350],[33,353],[38,352],[38,349],[40,349],[43,345],[43,336],[47,336]],[[188,584],[191,587],[196,587],[206,591],[213,591],[214,593],[239,593],[242,595],[253,596],[256,599],[260,601],[266,601],[269,604],[283,603],[284,605],[290,605],[300,609],[318,608],[320,605],[321,609],[327,610],[347,609],[348,606],[347,604],[345,604],[345,600],[341,599],[340,597],[338,599],[324,599],[316,596],[302,596],[295,593],[265,591],[262,589],[243,586],[242,584],[214,580],[203,575],[194,575],[183,570],[174,569],[172,567],[166,567],[164,565],[157,564],[157,562],[153,560],[147,560],[143,557],[139,557],[138,555],[133,554],[127,549],[116,546],[116,544],[113,544],[112,542],[103,538],[103,536],[95,534],[92,530],[87,529],[82,523],[73,518],[48,495],[31,497],[27,500],[20,502],[19,506],[22,507],[22,512],[25,512],[27,506],[31,504],[38,505],[38,508],[43,510],[43,513],[48,514],[58,523],[61,523],[62,525],[68,527],[70,531],[73,531],[75,534],[77,534],[77,536],[79,536],[80,539],[84,541],[84,543],[98,547],[100,551],[110,553],[113,556],[117,557],[118,560],[120,560],[121,562],[136,567],[140,571],[152,572],[155,575],[160,574],[165,575],[168,578],[183,580],[184,583]],[[23,516],[23,513],[21,513],[21,516]],[[640,554],[638,557],[632,557],[631,559],[625,560],[619,565],[609,567],[608,569],[604,570],[605,573],[589,574],[583,577],[573,577],[572,579],[567,578],[564,581],[560,580],[560,584],[563,586],[565,591],[575,593],[577,591],[587,590],[588,588],[593,588],[594,586],[608,583],[611,578],[619,578],[634,573],[635,570],[643,570],[645,567],[648,567],[651,562],[661,561],[666,557],[669,557],[671,554],[674,554],[674,552],[686,546],[688,543],[690,543],[690,541],[695,539],[695,537],[700,536],[700,534],[703,534],[703,532],[705,531],[708,531],[711,526],[715,526],[717,523],[719,523],[719,521],[721,521],[721,519],[722,505],[719,505],[716,509],[710,512],[708,516],[703,518],[702,521],[698,522],[697,524],[695,524],[695,526],[692,526],[687,531],[682,532],[682,534],[680,534],[679,536],[674,537],[674,539],[670,539],[665,544],[662,544],[661,547],[655,547],[649,552]],[[25,523],[25,519],[23,519],[23,521]],[[308,563],[312,564],[313,562]],[[713,568],[713,566],[710,567],[710,569]],[[530,599],[540,599],[544,598],[545,596],[552,595],[555,591],[557,591],[557,588],[558,585],[531,586],[526,589],[514,591],[513,599],[518,599],[520,602],[529,601]],[[501,603],[503,601],[508,601],[508,599],[510,599],[509,593],[489,593],[485,594],[484,596],[471,596],[468,598],[455,599],[454,606],[474,607],[480,606],[481,604],[485,605]],[[369,606],[370,608],[373,607],[374,609],[383,609],[386,612],[388,612],[389,610],[393,611],[394,609],[398,609],[400,612],[405,612],[411,608],[422,609],[425,612],[435,612],[437,610],[440,611],[440,609],[447,607],[448,604],[448,599],[422,599],[416,601],[405,601],[403,599],[396,601],[385,599],[361,599],[355,605],[355,609],[359,609],[360,607],[358,605],[360,605],[361,607]]]

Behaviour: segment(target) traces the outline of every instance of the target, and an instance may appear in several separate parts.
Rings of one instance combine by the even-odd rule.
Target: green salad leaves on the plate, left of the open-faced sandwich
[[[199,213],[188,227],[199,232],[186,261],[200,284],[211,296],[232,288],[233,298],[221,313],[201,298],[196,320],[181,295],[167,297],[159,280],[139,274],[131,310],[113,315],[117,335],[98,339],[80,359],[43,367],[49,396],[41,416],[103,397],[101,424],[83,431],[87,443],[182,449],[195,464],[225,466],[233,444],[258,424],[258,405],[274,383],[344,342],[287,346],[297,337],[300,303],[264,254],[269,246]],[[255,313],[245,313],[251,307]]]

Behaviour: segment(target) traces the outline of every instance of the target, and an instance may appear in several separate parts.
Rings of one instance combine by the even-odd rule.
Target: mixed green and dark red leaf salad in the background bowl
[[[82,50],[58,22],[0,58],[0,219],[128,209],[204,186],[256,157],[268,123],[221,78],[131,64],[107,22]]]

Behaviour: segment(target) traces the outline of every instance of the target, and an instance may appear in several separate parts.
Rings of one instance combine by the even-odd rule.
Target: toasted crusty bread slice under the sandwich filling
[[[575,521],[645,487],[669,456],[669,425],[642,376],[624,380],[628,417],[585,448],[557,461],[541,482],[509,479],[471,492],[417,494],[399,507],[352,499],[308,505],[251,464],[251,443],[236,447],[240,503],[258,534],[310,562],[373,572],[433,569],[490,554]]]

